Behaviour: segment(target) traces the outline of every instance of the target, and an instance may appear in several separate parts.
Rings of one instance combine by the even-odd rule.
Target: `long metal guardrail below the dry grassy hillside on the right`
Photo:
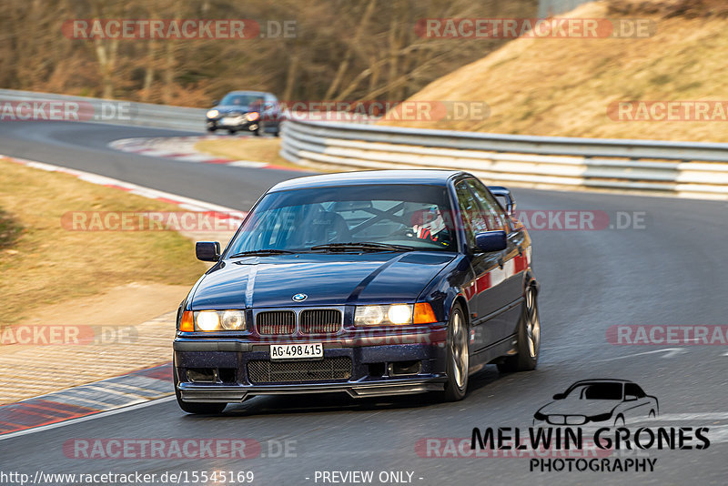
[[[362,168],[440,167],[528,187],[728,198],[728,144],[530,137],[289,119],[281,155]]]

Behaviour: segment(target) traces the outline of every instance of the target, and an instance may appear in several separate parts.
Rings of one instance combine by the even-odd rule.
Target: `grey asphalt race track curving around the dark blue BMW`
[[[276,182],[302,175],[144,157],[106,147],[119,138],[174,135],[188,133],[3,122],[0,153],[239,209],[248,209]],[[471,378],[465,400],[445,404],[427,395],[396,400],[352,400],[343,395],[258,397],[228,406],[222,416],[193,417],[179,410],[174,400],[161,400],[0,440],[0,470],[31,475],[37,470],[253,471],[253,484],[264,485],[321,484],[316,471],[374,471],[375,480],[380,471],[410,471],[411,481],[420,485],[725,484],[728,346],[617,346],[608,342],[607,329],[613,325],[728,324],[728,203],[518,188],[513,192],[521,209],[593,210],[612,218],[619,211],[638,211],[645,217],[645,228],[531,230],[534,270],[541,281],[542,344],[537,371],[501,376],[490,366]],[[465,438],[470,443],[473,427],[527,428],[533,413],[554,393],[576,380],[592,378],[637,382],[660,401],[660,418],[647,425],[708,427],[710,447],[640,451],[639,457],[657,458],[654,471],[641,473],[537,472],[530,471],[528,457],[422,457],[426,454],[416,449],[418,441],[426,438]],[[251,439],[260,443],[261,451],[244,460],[67,457],[64,443],[79,438]],[[278,447],[286,443],[288,457]]]

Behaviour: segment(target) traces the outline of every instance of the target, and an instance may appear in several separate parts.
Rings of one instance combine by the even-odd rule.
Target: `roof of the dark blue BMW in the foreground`
[[[363,170],[358,172],[339,172],[320,176],[297,177],[279,182],[268,192],[292,189],[333,186],[361,186],[369,184],[426,184],[445,186],[450,178],[466,174],[460,170],[441,169],[391,169]]]

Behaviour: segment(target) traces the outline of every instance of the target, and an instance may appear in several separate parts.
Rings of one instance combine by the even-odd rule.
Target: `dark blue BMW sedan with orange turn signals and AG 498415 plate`
[[[501,204],[502,201],[502,204]],[[271,187],[177,312],[174,380],[191,413],[267,394],[461,400],[472,373],[533,370],[539,286],[505,187],[381,170]]]

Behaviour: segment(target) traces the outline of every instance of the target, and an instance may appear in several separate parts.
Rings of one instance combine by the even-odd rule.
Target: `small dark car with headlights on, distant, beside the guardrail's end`
[[[269,133],[278,137],[283,119],[278,98],[263,91],[231,91],[207,110],[208,132]]]

